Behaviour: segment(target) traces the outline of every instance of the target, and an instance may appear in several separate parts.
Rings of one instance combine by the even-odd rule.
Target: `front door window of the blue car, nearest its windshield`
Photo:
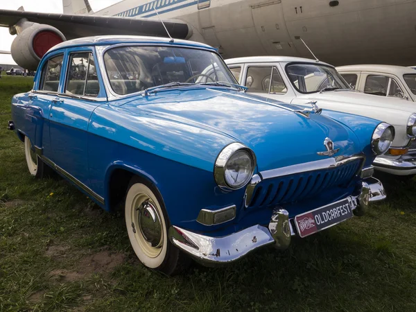
[[[92,53],[81,52],[69,55],[65,94],[98,96],[99,92],[100,87]]]

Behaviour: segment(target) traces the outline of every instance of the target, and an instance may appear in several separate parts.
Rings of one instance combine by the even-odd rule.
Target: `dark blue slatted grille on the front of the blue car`
[[[263,207],[311,198],[332,187],[344,187],[352,181],[361,168],[356,159],[335,168],[297,173],[261,181],[254,189],[248,207]]]

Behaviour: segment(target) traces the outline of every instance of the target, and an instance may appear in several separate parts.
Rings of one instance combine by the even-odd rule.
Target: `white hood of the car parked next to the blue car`
[[[324,110],[335,110],[378,119],[395,126],[396,136],[392,146],[406,146],[409,138],[406,125],[410,114],[416,112],[416,103],[400,98],[388,98],[361,92],[336,90],[304,94],[294,98],[292,103],[303,105],[317,101]]]

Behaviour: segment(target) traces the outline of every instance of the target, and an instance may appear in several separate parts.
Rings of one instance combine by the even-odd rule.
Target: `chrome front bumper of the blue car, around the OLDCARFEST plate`
[[[361,193],[351,198],[355,205],[354,214],[362,216],[370,202],[385,198],[383,184],[370,177],[363,182]],[[173,245],[196,261],[205,266],[215,266],[239,260],[249,252],[266,245],[275,245],[275,248],[284,250],[291,244],[291,237],[297,236],[297,232],[288,211],[280,209],[273,211],[268,227],[253,225],[227,236],[211,237],[173,225],[168,235]]]

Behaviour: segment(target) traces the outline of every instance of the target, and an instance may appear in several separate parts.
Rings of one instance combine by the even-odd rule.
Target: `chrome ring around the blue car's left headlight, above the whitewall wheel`
[[[229,159],[231,159],[232,156],[239,151],[244,151],[250,157],[252,162],[252,170],[250,175],[248,175],[243,184],[241,184],[239,187],[233,187],[232,185],[229,185],[225,180],[225,171]],[[225,148],[223,148],[223,150],[221,150],[220,154],[218,155],[214,165],[214,179],[216,181],[216,184],[218,184],[218,187],[220,187],[221,189],[225,189],[227,191],[241,189],[245,187],[248,184],[248,182],[250,182],[256,166],[257,159],[256,155],[254,155],[254,152],[247,146],[241,143],[234,142],[225,146]]]

